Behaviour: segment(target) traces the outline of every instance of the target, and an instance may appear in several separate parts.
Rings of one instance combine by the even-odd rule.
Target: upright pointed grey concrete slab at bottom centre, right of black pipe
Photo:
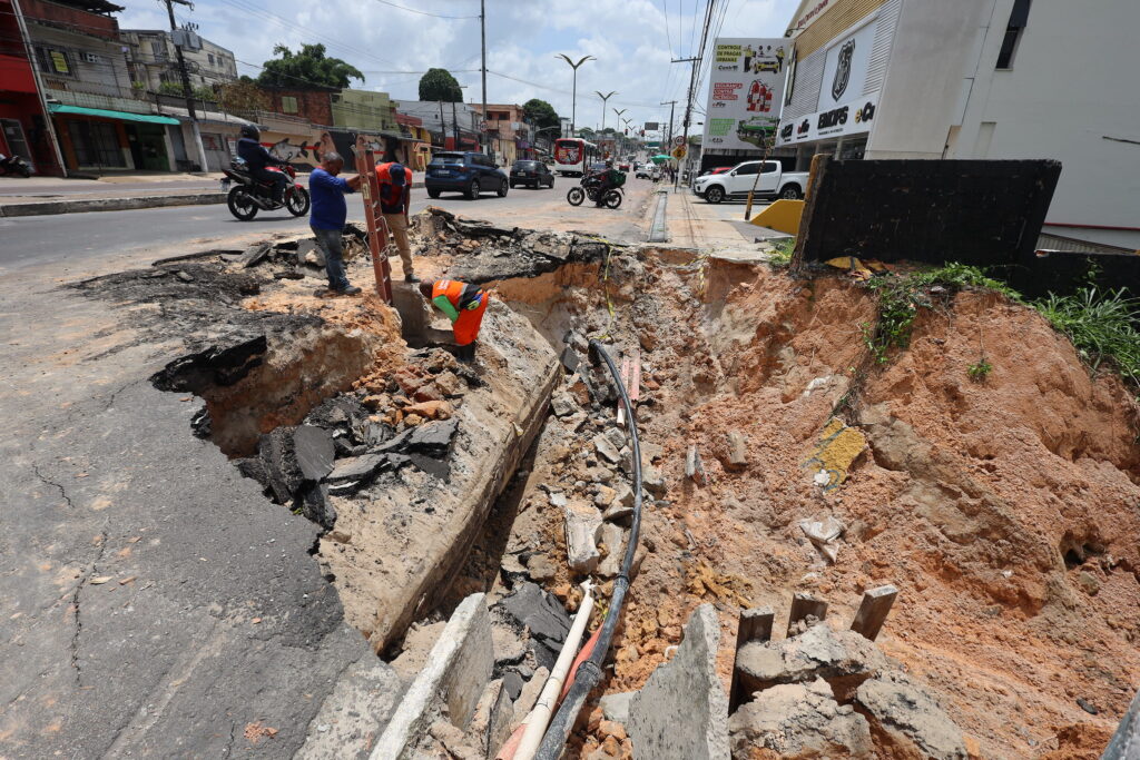
[[[697,607],[673,660],[659,665],[629,703],[626,730],[637,760],[727,760],[728,697],[716,672],[720,622]]]

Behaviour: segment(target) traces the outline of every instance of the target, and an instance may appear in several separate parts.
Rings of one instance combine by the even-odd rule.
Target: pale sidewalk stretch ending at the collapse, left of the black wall
[[[665,226],[670,246],[698,248],[733,259],[756,259],[772,250],[765,240],[782,237],[744,221],[744,202],[706,203],[689,188],[668,188]],[[768,206],[768,201],[752,204],[752,215]]]

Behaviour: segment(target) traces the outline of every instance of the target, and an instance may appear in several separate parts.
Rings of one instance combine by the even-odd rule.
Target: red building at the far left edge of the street
[[[11,0],[0,0],[0,153],[62,174]]]

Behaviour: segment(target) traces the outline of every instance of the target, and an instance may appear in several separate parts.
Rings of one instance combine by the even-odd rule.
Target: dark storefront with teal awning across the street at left
[[[172,171],[165,125],[177,119],[52,104],[59,148],[70,171]]]

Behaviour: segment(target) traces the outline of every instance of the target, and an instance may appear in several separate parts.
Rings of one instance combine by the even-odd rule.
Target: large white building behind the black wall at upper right
[[[1138,0],[804,0],[782,155],[1056,158],[1054,236],[1140,248]]]

